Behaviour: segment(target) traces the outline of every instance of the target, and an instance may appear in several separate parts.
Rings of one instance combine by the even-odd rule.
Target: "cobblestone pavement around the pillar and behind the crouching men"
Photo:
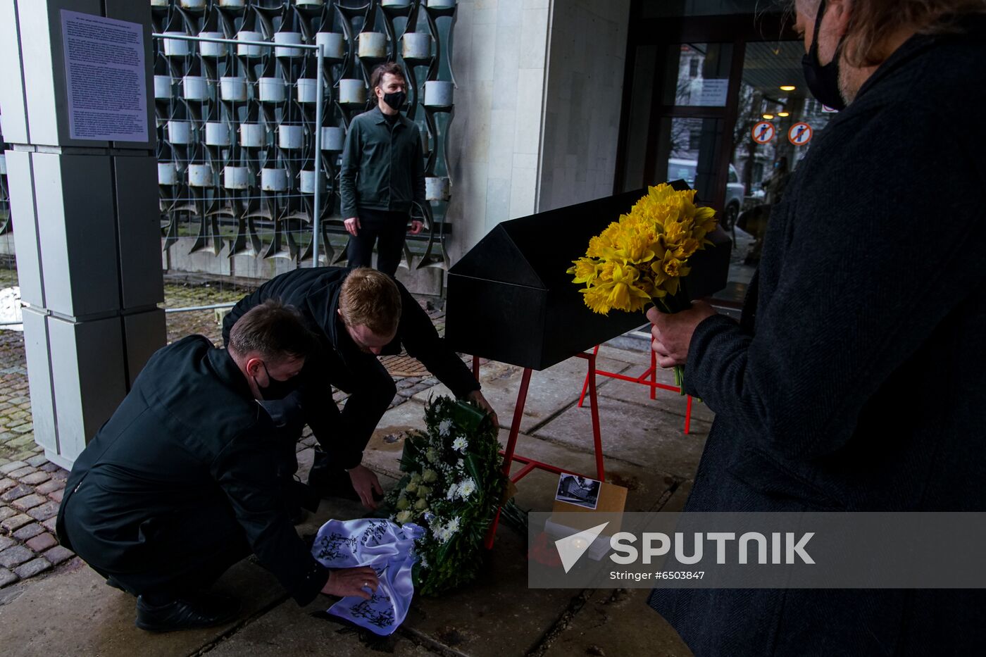
[[[17,285],[17,272],[0,268],[0,289]],[[194,277],[167,277],[165,308],[185,308],[238,301],[253,288],[248,284]],[[444,314],[422,301],[440,332]],[[201,333],[222,343],[221,313],[213,310],[168,314],[168,341]],[[406,357],[395,358],[402,371]],[[385,359],[384,364],[387,365]],[[410,370],[414,370],[413,366]],[[394,376],[397,394],[390,407],[409,400],[438,382],[429,376]],[[347,395],[335,391],[341,402]],[[55,516],[68,473],[44,458],[35,445],[24,356],[24,333],[0,329],[0,589],[50,571],[74,554],[58,545]],[[298,450],[316,439],[306,428]]]

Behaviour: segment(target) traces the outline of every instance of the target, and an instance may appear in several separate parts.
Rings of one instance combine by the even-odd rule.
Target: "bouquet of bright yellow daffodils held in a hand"
[[[716,212],[695,205],[695,190],[677,190],[667,183],[648,189],[630,212],[589,241],[586,255],[573,260],[568,273],[584,283],[580,292],[594,313],[616,309],[645,311],[650,303],[664,313],[691,307],[681,293],[688,258],[711,245]],[[680,368],[674,368],[681,386]]]

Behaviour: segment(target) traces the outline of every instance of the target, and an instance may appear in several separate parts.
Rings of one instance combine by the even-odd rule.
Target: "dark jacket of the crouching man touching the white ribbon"
[[[76,460],[59,539],[71,547],[75,537],[103,564],[138,567],[154,518],[195,513],[222,495],[260,562],[308,604],[328,570],[285,512],[281,477],[295,442],[274,428],[225,349],[185,337],[151,357]]]

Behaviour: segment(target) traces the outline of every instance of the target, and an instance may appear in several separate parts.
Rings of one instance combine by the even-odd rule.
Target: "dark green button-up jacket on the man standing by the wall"
[[[425,202],[425,162],[421,131],[403,114],[391,129],[380,107],[349,124],[339,176],[342,217],[357,208],[407,212]]]

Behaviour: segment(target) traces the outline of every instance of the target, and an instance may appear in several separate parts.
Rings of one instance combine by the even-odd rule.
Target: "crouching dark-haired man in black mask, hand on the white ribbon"
[[[136,624],[222,624],[239,601],[203,591],[251,551],[300,605],[370,597],[372,568],[329,571],[292,526],[297,434],[267,409],[316,338],[267,301],[233,327],[228,349],[191,335],[159,350],[75,462],[58,538],[107,584],[137,596]]]

